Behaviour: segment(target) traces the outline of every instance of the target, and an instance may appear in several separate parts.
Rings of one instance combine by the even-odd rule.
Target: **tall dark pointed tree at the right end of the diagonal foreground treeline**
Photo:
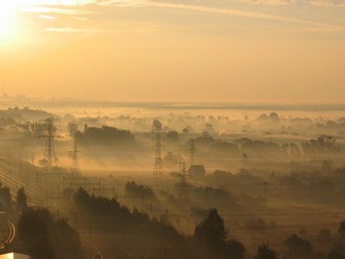
[[[195,228],[195,238],[219,247],[225,244],[228,231],[224,227],[224,220],[217,209],[211,209],[208,217]]]

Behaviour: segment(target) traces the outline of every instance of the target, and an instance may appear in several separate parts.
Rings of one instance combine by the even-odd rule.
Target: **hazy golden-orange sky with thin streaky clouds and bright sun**
[[[10,96],[344,104],[345,0],[0,0]]]

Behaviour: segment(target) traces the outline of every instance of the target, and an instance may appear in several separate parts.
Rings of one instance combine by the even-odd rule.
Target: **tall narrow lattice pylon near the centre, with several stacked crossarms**
[[[164,142],[165,137],[163,137],[166,130],[161,129],[161,124],[155,124],[156,128],[152,129],[152,133],[155,134],[155,137],[152,137],[152,141],[155,144],[152,146],[153,149],[156,151],[155,155],[155,168],[153,169],[153,177],[154,178],[163,178],[163,162],[161,160],[161,149],[164,149],[166,146],[161,144]]]

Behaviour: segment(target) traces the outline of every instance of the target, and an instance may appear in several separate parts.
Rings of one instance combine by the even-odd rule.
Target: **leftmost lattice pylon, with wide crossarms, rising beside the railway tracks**
[[[42,135],[39,137],[46,138],[46,149],[44,150],[44,157],[43,159],[47,160],[48,168],[52,166],[57,166],[57,157],[55,155],[54,149],[54,138],[61,137],[61,135],[55,135],[55,132],[58,130],[54,126],[55,119],[49,118],[44,120],[46,124],[43,124],[43,128],[40,129],[42,131]]]

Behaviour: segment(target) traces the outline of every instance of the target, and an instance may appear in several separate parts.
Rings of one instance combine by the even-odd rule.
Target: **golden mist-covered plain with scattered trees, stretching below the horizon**
[[[342,105],[4,101],[1,206],[34,258],[34,218],[51,258],[344,253]]]

